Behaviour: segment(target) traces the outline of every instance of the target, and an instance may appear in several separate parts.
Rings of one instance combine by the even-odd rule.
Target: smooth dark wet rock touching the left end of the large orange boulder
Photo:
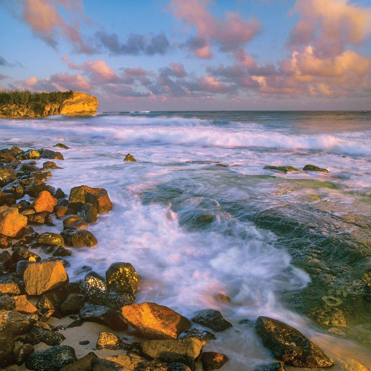
[[[81,308],[79,317],[83,321],[106,325],[113,330],[124,330],[128,327],[120,313],[102,305],[86,305]]]

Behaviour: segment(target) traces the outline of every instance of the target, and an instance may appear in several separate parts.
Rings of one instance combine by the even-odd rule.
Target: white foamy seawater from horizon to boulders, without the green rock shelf
[[[220,310],[233,328],[217,333],[217,340],[207,347],[227,354],[231,371],[253,370],[272,361],[251,325],[260,315],[294,325],[335,358],[351,350],[355,360],[371,368],[362,347],[326,335],[284,308],[282,293],[305,287],[309,275],[291,265],[274,233],[243,218],[249,208],[300,203],[313,192],[322,200],[349,204],[357,194],[371,194],[371,115],[359,114],[353,121],[350,117],[115,113],[1,120],[0,138],[2,147],[23,149],[55,149],[53,144],[63,142],[71,147],[60,149],[65,160],[56,161],[64,169],[52,170],[48,184],[67,194],[82,184],[108,191],[113,210],[99,215],[89,227],[98,245],[73,249],[66,258],[71,281],[84,275],[83,266],[104,276],[111,263],[130,262],[142,277],[137,302],[167,305],[188,318],[199,309]],[[138,162],[124,163],[127,153]],[[325,167],[330,174],[263,169],[265,165],[302,169],[306,164]],[[336,186],[287,192],[272,179]],[[206,214],[212,222],[197,224],[197,218]],[[55,227],[37,230],[60,232],[61,221],[54,223]],[[230,297],[231,304],[218,301],[220,293]],[[241,320],[251,323],[242,325]]]

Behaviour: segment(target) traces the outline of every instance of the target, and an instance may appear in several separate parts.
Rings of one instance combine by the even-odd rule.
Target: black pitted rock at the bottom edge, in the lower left
[[[54,347],[32,353],[27,357],[25,365],[29,370],[58,371],[73,361],[76,361],[75,350],[68,345]]]

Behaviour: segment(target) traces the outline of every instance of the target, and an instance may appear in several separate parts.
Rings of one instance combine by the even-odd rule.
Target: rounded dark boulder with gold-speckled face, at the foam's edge
[[[106,271],[106,282],[111,290],[133,294],[138,291],[140,278],[130,263],[113,263]]]

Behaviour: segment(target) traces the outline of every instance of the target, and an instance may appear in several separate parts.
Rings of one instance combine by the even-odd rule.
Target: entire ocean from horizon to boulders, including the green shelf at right
[[[1,148],[60,150],[63,169],[48,184],[66,194],[77,185],[108,191],[112,211],[89,226],[98,245],[66,257],[70,281],[87,266],[104,276],[111,263],[130,262],[142,277],[136,302],[189,319],[221,311],[233,327],[205,350],[226,354],[229,371],[274,361],[255,334],[258,316],[302,331],[334,360],[332,370],[371,370],[362,294],[370,279],[371,111],[3,119],[0,138]],[[124,162],[127,153],[137,162]],[[302,171],[307,164],[328,173]],[[53,222],[35,230],[60,232],[62,222]]]

